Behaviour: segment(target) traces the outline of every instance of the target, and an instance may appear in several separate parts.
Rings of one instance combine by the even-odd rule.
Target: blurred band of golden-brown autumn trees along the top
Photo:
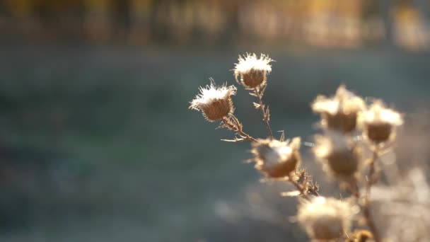
[[[429,2],[390,0],[6,0],[6,40],[429,47]],[[5,39],[5,38],[3,38]],[[5,40],[3,40],[5,41]]]

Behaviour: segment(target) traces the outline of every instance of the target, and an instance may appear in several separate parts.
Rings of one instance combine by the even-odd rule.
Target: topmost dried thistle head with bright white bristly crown
[[[267,79],[267,74],[272,71],[270,62],[273,60],[265,54],[261,54],[260,58],[257,58],[256,54],[246,54],[243,57],[239,55],[238,61],[239,63],[235,64],[234,76],[236,81],[240,76],[240,83],[246,88],[262,85]]]

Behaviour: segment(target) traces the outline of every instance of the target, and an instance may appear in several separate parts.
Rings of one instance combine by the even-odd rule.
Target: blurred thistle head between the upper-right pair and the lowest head
[[[339,132],[315,137],[313,152],[324,170],[337,178],[349,180],[359,171],[360,149]]]

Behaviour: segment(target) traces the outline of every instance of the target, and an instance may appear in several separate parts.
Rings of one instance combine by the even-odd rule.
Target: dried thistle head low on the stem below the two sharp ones
[[[252,143],[255,168],[271,178],[281,178],[296,171],[301,161],[300,137],[289,142],[276,139],[260,139]]]

